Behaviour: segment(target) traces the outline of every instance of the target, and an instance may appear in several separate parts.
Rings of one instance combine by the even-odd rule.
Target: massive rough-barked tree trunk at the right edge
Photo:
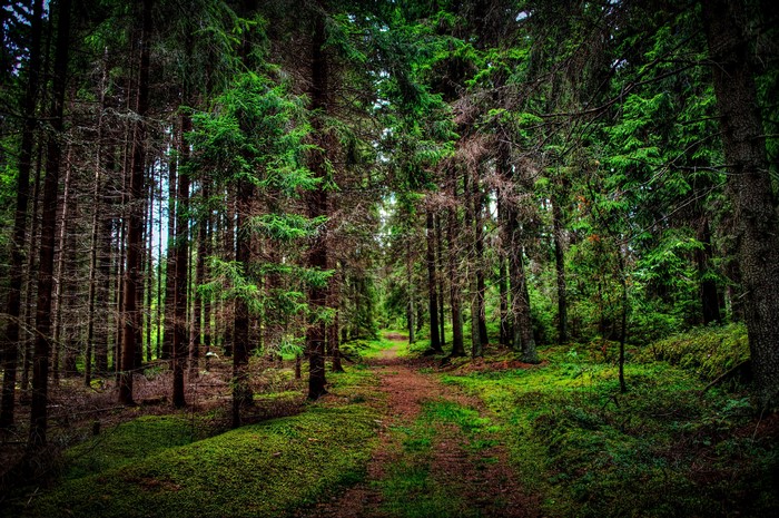
[[[766,158],[755,58],[745,32],[743,2],[701,4],[729,166],[728,194],[736,214],[755,391],[768,408],[779,400],[779,217]]]

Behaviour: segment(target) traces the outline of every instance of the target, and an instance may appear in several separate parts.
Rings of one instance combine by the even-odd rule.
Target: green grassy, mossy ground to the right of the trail
[[[698,375],[651,362],[627,366],[620,394],[615,366],[598,356],[558,346],[542,353],[545,366],[444,381],[503,422],[512,462],[549,516],[775,516],[776,437],[755,433],[743,393],[700,397]]]

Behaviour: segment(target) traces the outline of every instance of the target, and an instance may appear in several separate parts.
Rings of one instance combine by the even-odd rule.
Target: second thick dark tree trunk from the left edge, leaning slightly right
[[[47,442],[49,399],[49,355],[51,344],[51,291],[55,271],[55,237],[57,231],[57,198],[59,167],[62,158],[60,138],[65,128],[63,106],[68,49],[70,47],[70,0],[59,3],[55,76],[51,91],[50,121],[53,130],[49,137],[43,180],[43,214],[38,270],[38,303],[36,307],[36,342],[32,359],[32,401],[30,404],[30,431],[28,450],[37,451]]]

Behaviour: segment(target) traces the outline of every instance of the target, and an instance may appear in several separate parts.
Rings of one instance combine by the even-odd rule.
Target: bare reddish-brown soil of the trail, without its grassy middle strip
[[[371,368],[378,373],[378,390],[386,397],[386,416],[381,446],[368,463],[366,480],[329,501],[302,510],[298,515],[300,518],[389,518],[393,515],[383,509],[383,496],[377,486],[381,486],[387,468],[404,462],[404,456],[408,455],[391,430],[412,427],[422,405],[433,400],[453,401],[487,414],[479,400],[460,393],[453,387],[444,387],[433,373],[421,372],[421,368],[434,365],[435,360],[398,358],[397,351],[405,338],[386,338],[398,343],[371,362]],[[460,510],[456,516],[540,516],[538,498],[519,483],[516,473],[507,463],[505,447],[497,444],[474,453],[465,448],[466,444],[467,438],[460,427],[436,426],[430,476],[434,483],[445,486],[447,493],[467,502],[469,508]]]

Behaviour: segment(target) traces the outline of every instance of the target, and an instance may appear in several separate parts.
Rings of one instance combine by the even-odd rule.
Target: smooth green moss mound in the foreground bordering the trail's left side
[[[24,516],[279,516],[363,478],[375,413],[313,408],[65,481]],[[147,439],[148,440],[148,439]]]

